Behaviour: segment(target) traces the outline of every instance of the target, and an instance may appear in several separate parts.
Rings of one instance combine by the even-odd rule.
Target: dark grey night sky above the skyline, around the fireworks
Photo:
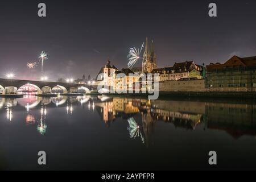
[[[40,2],[46,18],[38,17]],[[208,16],[210,2],[217,18]],[[53,81],[95,77],[108,57],[126,67],[129,48],[141,47],[146,36],[154,39],[159,67],[256,56],[256,1],[1,1],[0,77],[40,78],[40,66],[26,64],[41,51],[49,55],[44,71]]]

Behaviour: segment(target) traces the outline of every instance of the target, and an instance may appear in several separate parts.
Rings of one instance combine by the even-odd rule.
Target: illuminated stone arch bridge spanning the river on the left
[[[25,85],[34,87],[38,94],[51,93],[52,89],[62,90],[63,93],[75,93],[79,89],[89,93],[92,89],[97,88],[97,85],[75,84],[67,82],[12,80],[0,78],[0,93],[16,94],[17,90]]]

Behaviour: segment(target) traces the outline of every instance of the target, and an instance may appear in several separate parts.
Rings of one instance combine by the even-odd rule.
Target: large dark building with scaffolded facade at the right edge
[[[205,86],[209,91],[256,91],[256,56],[233,56],[224,64],[207,65]]]

